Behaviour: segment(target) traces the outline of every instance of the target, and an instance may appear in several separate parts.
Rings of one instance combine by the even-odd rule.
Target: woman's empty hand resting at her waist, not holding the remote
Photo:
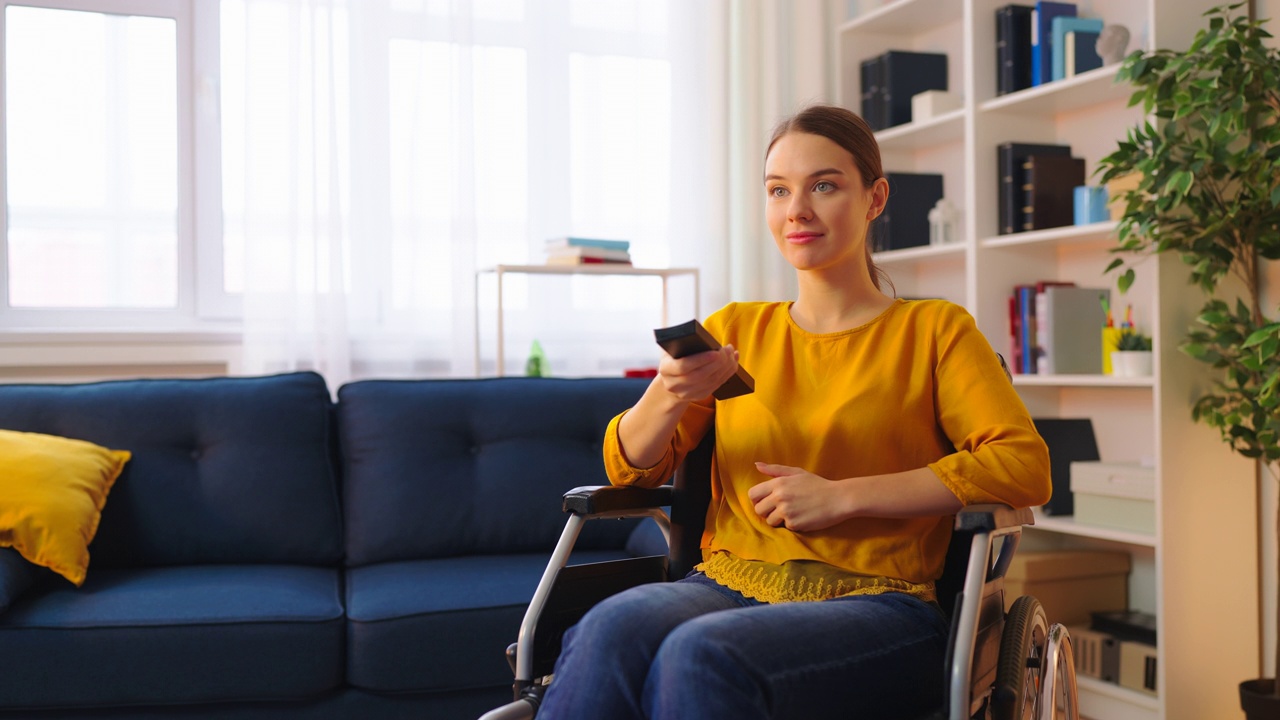
[[[756,514],[774,528],[805,533],[846,519],[838,482],[790,465],[756,462],[755,468],[773,479],[753,486],[746,495]]]

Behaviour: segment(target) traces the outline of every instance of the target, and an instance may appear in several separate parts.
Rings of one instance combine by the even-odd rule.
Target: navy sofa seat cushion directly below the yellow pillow
[[[297,698],[342,684],[339,570],[95,570],[0,615],[0,706]]]

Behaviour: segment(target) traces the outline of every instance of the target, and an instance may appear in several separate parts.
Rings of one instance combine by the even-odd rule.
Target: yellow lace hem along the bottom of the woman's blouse
[[[776,565],[762,560],[742,560],[717,551],[695,570],[760,602],[803,602],[831,600],[849,594],[901,592],[924,601],[934,600],[933,583],[909,583],[893,578],[859,575],[814,560],[792,560]]]

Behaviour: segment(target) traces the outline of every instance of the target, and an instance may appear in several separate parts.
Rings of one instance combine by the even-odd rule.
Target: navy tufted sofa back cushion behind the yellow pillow
[[[133,452],[93,568],[337,565],[332,409],[315,373],[0,386],[0,428]]]

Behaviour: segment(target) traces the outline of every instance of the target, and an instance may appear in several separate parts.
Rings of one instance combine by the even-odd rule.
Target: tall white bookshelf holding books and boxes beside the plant
[[[1208,370],[1176,350],[1202,297],[1176,258],[1137,266],[1126,296],[1102,272],[1116,224],[997,232],[996,147],[1006,141],[1061,142],[1097,168],[1143,119],[1116,67],[996,96],[996,9],[1007,0],[896,0],[836,28],[837,102],[860,110],[860,61],[886,50],[946,53],[960,110],[881,131],[886,170],[936,172],[961,211],[960,241],[876,255],[906,297],[945,297],[969,309],[996,350],[1009,352],[1007,297],[1015,284],[1071,281],[1112,288],[1112,306],[1133,305],[1155,340],[1149,378],[1015,375],[1034,416],[1091,418],[1106,461],[1153,460],[1156,532],[1089,527],[1074,518],[1037,519],[1029,544],[1130,552],[1130,606],[1158,618],[1157,696],[1088,678],[1080,683],[1094,720],[1203,720],[1239,716],[1236,685],[1258,676],[1257,520],[1253,465],[1229,452],[1216,430],[1190,419],[1210,387]],[[1028,0],[1028,5],[1034,4]],[[1130,50],[1187,47],[1213,0],[1078,3],[1082,14],[1132,31]],[[863,4],[867,6],[867,4]],[[1230,623],[1224,619],[1230,618]],[[1052,620],[1052,619],[1051,619]],[[1206,657],[1212,657],[1211,662]]]

